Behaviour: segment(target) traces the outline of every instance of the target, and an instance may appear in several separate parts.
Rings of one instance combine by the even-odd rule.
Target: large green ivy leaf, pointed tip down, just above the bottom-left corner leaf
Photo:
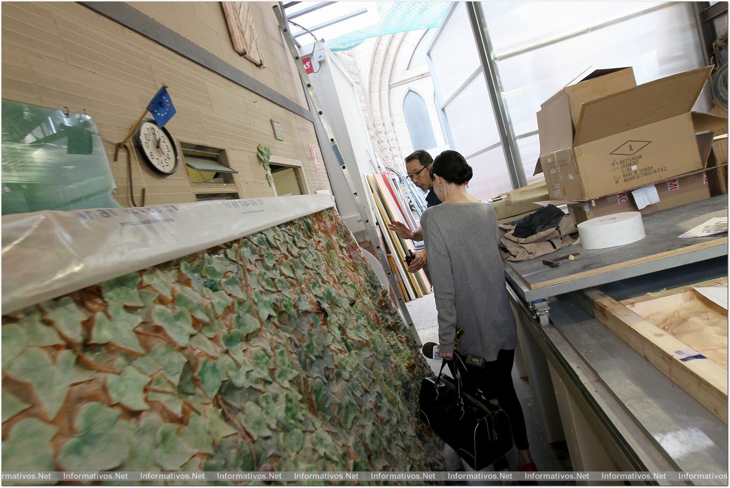
[[[31,347],[9,365],[5,372],[21,382],[32,384],[48,419],[53,419],[64,403],[69,385],[77,381],[74,363],[76,356],[71,351],[61,352],[58,362],[53,363],[43,349]]]

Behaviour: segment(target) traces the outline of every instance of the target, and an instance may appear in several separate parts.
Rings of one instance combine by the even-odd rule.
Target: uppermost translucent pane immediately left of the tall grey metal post
[[[479,67],[479,53],[464,2],[460,2],[429,53],[442,101],[446,101]]]

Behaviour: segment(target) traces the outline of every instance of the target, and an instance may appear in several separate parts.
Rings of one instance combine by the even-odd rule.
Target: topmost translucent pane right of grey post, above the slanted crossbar
[[[483,1],[499,56],[656,7],[661,1]],[[517,28],[515,28],[517,27]]]

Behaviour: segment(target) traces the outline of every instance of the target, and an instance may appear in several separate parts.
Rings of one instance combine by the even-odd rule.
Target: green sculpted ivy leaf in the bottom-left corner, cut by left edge
[[[3,401],[4,403],[4,401]],[[3,412],[4,414],[4,412]],[[39,419],[23,419],[2,443],[4,471],[53,471],[51,438],[58,429]],[[3,481],[5,484],[7,481]]]

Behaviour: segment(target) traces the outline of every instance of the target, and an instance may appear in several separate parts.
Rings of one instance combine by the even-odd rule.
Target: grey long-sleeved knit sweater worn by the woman
[[[515,349],[517,328],[504,285],[496,214],[491,205],[441,204],[420,218],[439,319],[439,348],[494,361]]]

